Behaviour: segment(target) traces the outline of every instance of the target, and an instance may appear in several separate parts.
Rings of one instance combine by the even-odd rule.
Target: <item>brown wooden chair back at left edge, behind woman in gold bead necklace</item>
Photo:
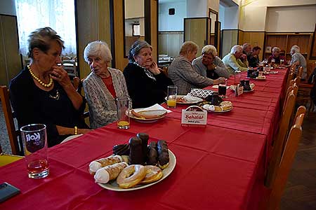
[[[20,136],[20,132],[18,130],[15,130],[13,120],[14,113],[11,109],[8,87],[6,87],[5,85],[0,86],[0,98],[2,109],[4,111],[4,118],[6,120],[6,130],[8,131],[12,153],[13,155],[23,155],[22,142],[18,141],[18,136]]]

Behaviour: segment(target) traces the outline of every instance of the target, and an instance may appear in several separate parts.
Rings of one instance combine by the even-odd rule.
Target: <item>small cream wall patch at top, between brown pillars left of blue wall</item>
[[[144,0],[125,0],[125,18],[143,18]]]

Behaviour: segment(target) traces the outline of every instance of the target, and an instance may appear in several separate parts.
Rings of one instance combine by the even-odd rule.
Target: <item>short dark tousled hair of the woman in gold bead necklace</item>
[[[46,53],[51,48],[51,41],[54,40],[59,43],[60,48],[65,49],[64,41],[51,27],[36,29],[29,34],[29,39],[27,40],[29,43],[29,52],[27,52],[27,55],[33,58],[32,51],[34,48],[39,48],[39,50]]]

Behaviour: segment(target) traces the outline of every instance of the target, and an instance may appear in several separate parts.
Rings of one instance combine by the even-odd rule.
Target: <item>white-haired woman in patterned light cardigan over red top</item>
[[[91,73],[84,80],[90,126],[98,128],[117,120],[115,98],[129,97],[123,73],[109,67],[112,55],[107,43],[93,41],[84,48]]]

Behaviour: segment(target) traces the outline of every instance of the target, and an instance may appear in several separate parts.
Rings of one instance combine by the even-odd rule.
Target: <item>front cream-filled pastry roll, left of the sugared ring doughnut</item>
[[[94,175],[94,180],[98,183],[107,183],[113,179],[117,179],[119,173],[121,173],[121,171],[127,166],[126,162],[119,162],[114,165],[108,165],[107,167],[100,168]]]

